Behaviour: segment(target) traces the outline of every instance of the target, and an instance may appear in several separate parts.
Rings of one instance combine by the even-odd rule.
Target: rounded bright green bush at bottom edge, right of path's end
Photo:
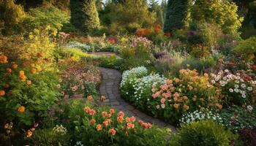
[[[181,125],[178,134],[171,139],[173,146],[229,146],[233,134],[211,120]]]

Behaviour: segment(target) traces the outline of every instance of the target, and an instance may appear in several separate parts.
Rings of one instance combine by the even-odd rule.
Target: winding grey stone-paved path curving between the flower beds
[[[170,128],[173,132],[176,131],[174,126],[163,122],[157,118],[153,118],[149,115],[146,115],[140,110],[135,109],[131,104],[121,99],[121,94],[119,91],[119,82],[121,81],[121,73],[115,69],[106,69],[99,67],[100,72],[102,73],[102,83],[99,87],[100,95],[106,96],[106,100],[103,104],[109,105],[116,110],[121,110],[127,115],[134,115],[138,120],[144,120],[148,123],[154,123],[159,127]]]

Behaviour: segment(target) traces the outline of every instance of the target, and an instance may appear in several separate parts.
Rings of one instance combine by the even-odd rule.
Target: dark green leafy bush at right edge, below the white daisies
[[[256,126],[256,110],[255,106],[247,107],[232,106],[221,110],[220,117],[223,125],[235,132],[243,128],[254,128]]]

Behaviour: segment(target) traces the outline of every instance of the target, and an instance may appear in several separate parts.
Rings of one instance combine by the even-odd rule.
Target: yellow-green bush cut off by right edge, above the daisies
[[[241,55],[244,60],[256,63],[256,37],[250,37],[239,42],[233,51]]]

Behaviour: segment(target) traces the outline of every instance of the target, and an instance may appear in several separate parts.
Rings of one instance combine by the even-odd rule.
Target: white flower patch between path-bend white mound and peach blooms
[[[142,77],[135,81],[133,88],[135,88],[135,98],[139,100],[145,91],[151,91],[152,86],[164,85],[165,77],[159,74],[149,74],[146,77]]]

